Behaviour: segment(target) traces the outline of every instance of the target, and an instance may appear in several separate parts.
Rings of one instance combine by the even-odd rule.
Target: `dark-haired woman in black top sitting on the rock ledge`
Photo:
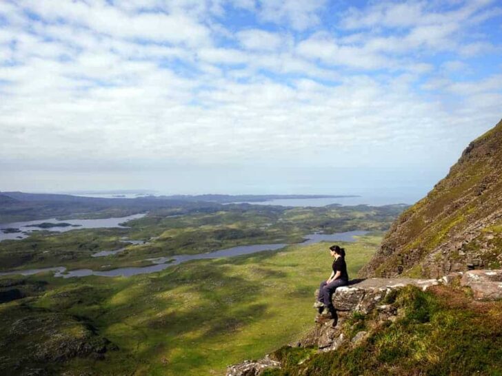
[[[317,296],[317,302],[314,304],[314,308],[319,309],[319,313],[322,313],[325,309],[325,314],[331,314],[335,317],[334,306],[331,301],[331,296],[337,287],[345,286],[349,282],[349,275],[347,273],[347,264],[345,264],[345,249],[340,248],[337,245],[332,245],[330,247],[331,257],[334,258],[332,264],[332,273],[328,280],[321,282],[319,286],[319,295]]]

